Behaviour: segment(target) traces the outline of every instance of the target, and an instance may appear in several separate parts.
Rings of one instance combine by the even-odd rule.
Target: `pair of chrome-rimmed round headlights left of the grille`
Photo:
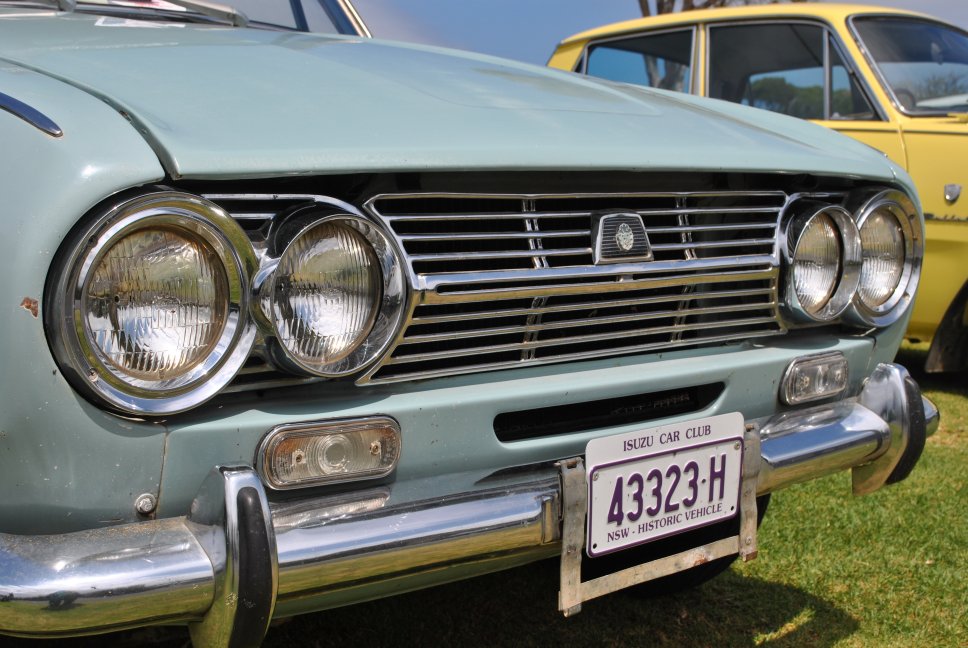
[[[260,269],[246,234],[207,200],[163,192],[111,209],[75,239],[48,290],[62,366],[111,407],[155,415],[214,396],[257,329],[290,369],[359,370],[399,322],[396,256],[353,214],[306,210],[296,220],[270,232]]]

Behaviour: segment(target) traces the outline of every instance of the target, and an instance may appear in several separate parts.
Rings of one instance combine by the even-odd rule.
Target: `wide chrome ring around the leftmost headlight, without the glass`
[[[169,231],[216,258],[224,271],[224,324],[204,356],[171,377],[151,379],[126,372],[105,355],[89,329],[86,310],[99,264],[125,238]],[[176,191],[145,194],[109,209],[73,239],[57,281],[48,290],[49,331],[65,373],[86,394],[129,414],[182,412],[214,396],[235,376],[255,340],[247,316],[249,278],[258,261],[248,238],[217,205]]]

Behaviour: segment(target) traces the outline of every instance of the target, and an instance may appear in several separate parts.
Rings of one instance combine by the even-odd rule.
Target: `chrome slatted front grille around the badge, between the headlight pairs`
[[[378,196],[405,252],[409,324],[372,382],[783,332],[783,192]],[[654,260],[594,265],[592,220],[641,216]]]

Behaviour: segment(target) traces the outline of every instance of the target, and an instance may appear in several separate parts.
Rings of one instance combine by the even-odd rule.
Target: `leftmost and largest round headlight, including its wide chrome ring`
[[[67,253],[48,299],[51,341],[86,393],[130,413],[179,412],[213,396],[245,361],[255,253],[214,204],[141,196]]]

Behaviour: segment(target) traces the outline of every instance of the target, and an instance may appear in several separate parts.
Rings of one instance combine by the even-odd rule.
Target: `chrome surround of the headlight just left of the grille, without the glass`
[[[355,340],[352,349],[331,362],[311,362],[301,358],[283,341],[280,322],[274,313],[274,295],[282,280],[280,265],[294,244],[324,225],[350,228],[369,245],[374,255],[380,294],[374,300],[374,317],[367,330]],[[407,302],[407,285],[399,255],[390,238],[366,218],[348,211],[321,213],[311,207],[292,214],[269,234],[269,254],[259,272],[254,291],[259,303],[256,313],[260,326],[272,341],[270,348],[277,363],[297,373],[335,378],[354,374],[378,358],[397,335]]]

